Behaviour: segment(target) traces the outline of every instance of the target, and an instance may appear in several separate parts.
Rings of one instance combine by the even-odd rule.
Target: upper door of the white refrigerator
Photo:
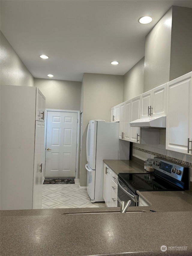
[[[86,153],[87,163],[92,170],[95,170],[97,142],[97,121],[91,120],[87,129]]]

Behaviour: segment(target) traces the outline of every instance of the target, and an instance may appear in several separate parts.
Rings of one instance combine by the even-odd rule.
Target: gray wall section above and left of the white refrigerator
[[[110,122],[110,109],[123,101],[123,76],[85,73],[82,80],[80,185],[86,186],[86,134],[89,120]]]

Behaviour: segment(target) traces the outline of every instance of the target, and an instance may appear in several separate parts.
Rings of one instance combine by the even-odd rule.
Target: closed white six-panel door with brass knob
[[[77,113],[47,112],[45,178],[75,178]]]

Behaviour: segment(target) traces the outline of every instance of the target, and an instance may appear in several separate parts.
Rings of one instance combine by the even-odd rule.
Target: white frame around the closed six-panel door
[[[76,147],[76,172],[75,172],[75,179],[78,178],[78,165],[79,165],[79,126],[80,126],[80,110],[63,110],[63,109],[45,109],[45,140],[44,140],[44,163],[46,165],[46,135],[47,135],[47,113],[48,112],[67,112],[67,113],[77,113],[77,147]],[[45,165],[43,170],[43,182],[45,179]]]

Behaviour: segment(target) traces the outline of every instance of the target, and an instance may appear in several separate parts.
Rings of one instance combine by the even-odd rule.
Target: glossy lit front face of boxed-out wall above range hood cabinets
[[[147,92],[169,81],[172,8],[146,36],[144,90]]]

